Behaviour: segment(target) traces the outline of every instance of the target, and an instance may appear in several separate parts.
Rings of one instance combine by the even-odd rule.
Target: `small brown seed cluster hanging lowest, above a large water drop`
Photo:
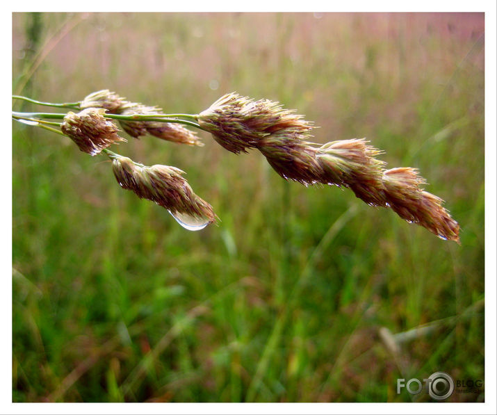
[[[193,193],[178,168],[168,165],[146,166],[131,158],[109,154],[112,168],[120,186],[132,190],[138,197],[151,200],[171,213],[184,213],[209,223],[214,222],[212,206]]]

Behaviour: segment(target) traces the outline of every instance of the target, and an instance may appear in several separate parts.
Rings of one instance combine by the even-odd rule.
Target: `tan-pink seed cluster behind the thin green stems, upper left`
[[[136,102],[127,101],[115,92],[100,90],[92,92],[80,103],[80,108],[89,106],[106,108],[109,113],[117,115],[161,115],[162,109],[157,106],[146,106]],[[197,135],[180,124],[155,122],[155,121],[123,121],[120,120],[122,129],[134,138],[150,134],[162,140],[172,141],[187,145],[202,146],[203,143]]]

